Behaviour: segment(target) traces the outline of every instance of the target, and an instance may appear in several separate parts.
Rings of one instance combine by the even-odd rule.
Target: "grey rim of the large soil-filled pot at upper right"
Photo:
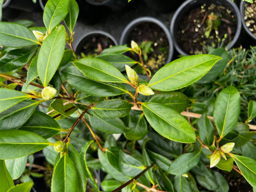
[[[174,33],[174,28],[175,28],[175,25],[176,25],[175,21],[177,20],[177,18],[180,18],[179,17],[180,12],[183,9],[185,9],[190,4],[196,4],[198,1],[201,1],[201,0],[187,0],[184,3],[182,3],[179,6],[179,8],[177,9],[177,11],[175,11],[175,13],[172,17],[172,20],[171,20],[170,31],[171,31],[171,36],[172,36],[172,39],[173,39],[174,47],[182,55],[190,55],[190,54],[188,54],[187,52],[185,52],[181,49],[181,47],[179,46],[179,44],[177,42],[177,38],[175,38],[175,33]],[[217,3],[221,4],[221,2],[223,2],[223,1],[226,1],[230,5],[230,7],[234,10],[233,13],[235,15],[236,24],[237,24],[236,34],[235,34],[233,40],[231,42],[229,42],[229,44],[227,46],[227,49],[230,50],[231,47],[233,47],[235,45],[235,43],[237,42],[237,40],[240,36],[240,33],[241,33],[241,28],[242,28],[241,15],[240,15],[240,12],[239,12],[239,9],[238,9],[237,5],[234,2],[232,2],[231,0],[216,1],[215,3],[216,4]],[[201,4],[201,3],[198,3],[198,4]]]

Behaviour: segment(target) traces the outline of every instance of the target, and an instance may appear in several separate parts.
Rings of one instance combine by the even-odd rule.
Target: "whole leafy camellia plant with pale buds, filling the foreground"
[[[35,175],[33,154],[41,150],[53,165],[53,192],[86,191],[86,185],[93,191],[199,191],[197,183],[228,191],[222,174],[210,169],[215,166],[234,169],[256,188],[254,132],[237,122],[236,88],[219,93],[213,117],[187,112],[190,100],[180,92],[221,57],[183,57],[153,77],[135,42],[79,59],[72,46],[77,17],[75,0],[49,0],[45,27],[0,22],[1,192],[30,191],[33,182],[13,180]],[[140,62],[123,54],[128,51]],[[248,122],[256,116],[255,102],[249,108]],[[92,170],[102,170],[104,179]]]

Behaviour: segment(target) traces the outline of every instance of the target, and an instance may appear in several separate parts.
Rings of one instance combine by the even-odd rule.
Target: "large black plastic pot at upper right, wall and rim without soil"
[[[177,11],[175,11],[172,21],[171,21],[171,25],[170,25],[170,31],[171,31],[171,35],[173,38],[173,43],[175,46],[175,49],[182,55],[189,55],[187,52],[183,51],[180,47],[180,45],[178,44],[177,41],[177,31],[179,30],[179,25],[180,23],[183,21],[183,17],[185,17],[185,15],[187,15],[189,13],[189,11],[191,9],[193,9],[194,7],[197,6],[201,6],[202,4],[219,4],[219,5],[223,5],[225,7],[228,7],[229,10],[231,10],[234,14],[234,17],[236,19],[236,33],[235,36],[233,38],[233,40],[229,43],[227,49],[231,49],[231,47],[233,47],[235,45],[235,43],[237,42],[239,35],[241,33],[241,28],[242,28],[242,24],[241,24],[241,15],[239,12],[238,7],[236,6],[236,4],[230,0],[187,0],[186,2],[184,2],[183,4],[180,5],[180,7],[178,8]]]

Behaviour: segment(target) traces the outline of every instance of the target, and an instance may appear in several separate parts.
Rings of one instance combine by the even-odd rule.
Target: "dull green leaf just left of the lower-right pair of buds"
[[[167,172],[174,175],[187,173],[190,169],[198,164],[200,155],[201,150],[180,155],[172,162],[170,169]]]

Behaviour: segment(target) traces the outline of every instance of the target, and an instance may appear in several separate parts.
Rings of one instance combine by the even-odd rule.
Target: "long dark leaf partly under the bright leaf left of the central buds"
[[[69,67],[63,71],[62,74],[67,79],[68,83],[77,90],[87,94],[98,97],[110,97],[127,93],[123,84],[93,81],[85,77],[76,67]]]

